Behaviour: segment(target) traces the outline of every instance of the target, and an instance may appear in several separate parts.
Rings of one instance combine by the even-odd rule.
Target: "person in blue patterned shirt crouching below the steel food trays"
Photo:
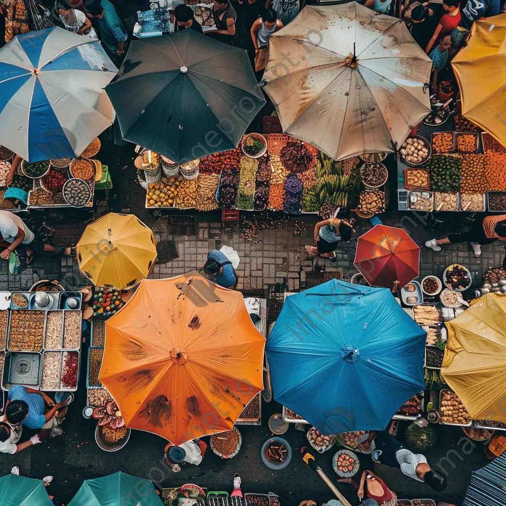
[[[55,404],[54,401],[44,392],[23,387],[22,385],[14,385],[9,390],[6,411],[9,403],[14,401],[24,401],[28,405],[28,412],[21,420],[21,423],[25,427],[28,427],[28,429],[38,430],[50,428],[50,420],[52,420],[58,409],[67,405],[68,399]],[[50,409],[47,412],[45,412],[46,403],[50,406]],[[17,423],[16,420],[11,420],[9,417],[7,419],[8,422],[13,424]],[[46,425],[48,427],[46,427]],[[40,432],[40,436],[44,437],[43,431]]]

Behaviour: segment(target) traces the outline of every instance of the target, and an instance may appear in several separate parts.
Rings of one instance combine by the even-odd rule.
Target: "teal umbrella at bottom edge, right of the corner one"
[[[119,472],[85,480],[68,506],[163,506],[163,503],[150,480]]]

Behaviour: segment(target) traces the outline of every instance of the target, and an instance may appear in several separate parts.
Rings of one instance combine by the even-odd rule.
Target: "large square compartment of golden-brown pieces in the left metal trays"
[[[40,351],[44,339],[43,311],[11,311],[9,349]]]

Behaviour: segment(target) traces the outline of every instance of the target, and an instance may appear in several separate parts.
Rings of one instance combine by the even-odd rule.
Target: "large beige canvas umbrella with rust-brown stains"
[[[401,20],[311,6],[270,36],[264,88],[285,133],[340,160],[404,142],[431,110],[431,68]]]

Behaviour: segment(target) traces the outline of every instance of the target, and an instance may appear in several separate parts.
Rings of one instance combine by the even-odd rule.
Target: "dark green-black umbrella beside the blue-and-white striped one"
[[[265,104],[246,51],[194,30],[133,41],[106,92],[124,140],[176,161],[236,148]]]

